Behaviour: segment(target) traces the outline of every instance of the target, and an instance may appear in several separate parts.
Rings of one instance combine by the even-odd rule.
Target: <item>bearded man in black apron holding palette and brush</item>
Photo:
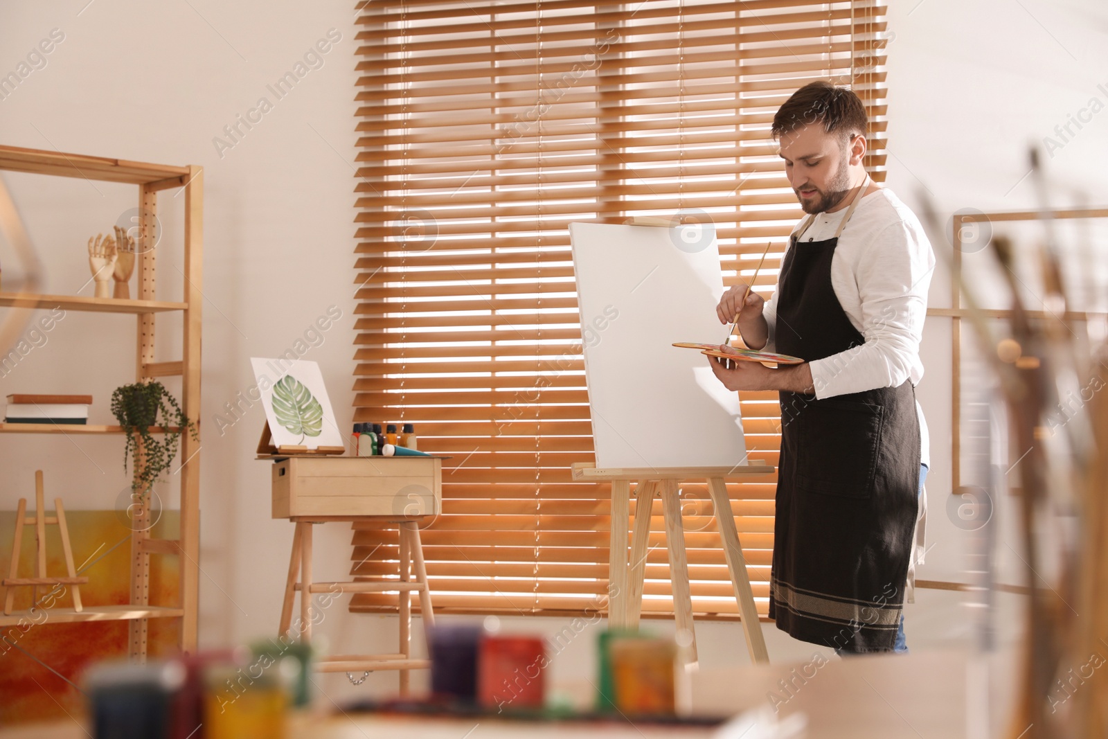
[[[770,617],[840,654],[907,650],[902,608],[927,464],[914,387],[935,258],[912,212],[865,173],[866,127],[858,96],[827,82],[773,116],[808,215],[770,301],[743,300],[739,284],[717,312],[725,324],[739,314],[751,349],[804,362],[711,360],[730,390],[780,391]]]

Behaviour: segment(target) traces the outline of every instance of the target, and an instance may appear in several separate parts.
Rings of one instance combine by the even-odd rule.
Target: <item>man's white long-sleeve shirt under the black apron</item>
[[[796,248],[833,238],[848,209],[818,214]],[[799,228],[800,224],[793,233]],[[904,380],[919,384],[920,341],[934,269],[935,255],[915,214],[888,188],[865,195],[831,259],[831,287],[865,342],[809,362],[817,398],[897,387]],[[763,315],[769,326],[766,350],[776,351],[776,291]],[[916,414],[921,460],[930,466],[927,424],[919,403]]]

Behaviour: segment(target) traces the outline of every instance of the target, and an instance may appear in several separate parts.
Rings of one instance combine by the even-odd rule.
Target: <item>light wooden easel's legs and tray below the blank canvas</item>
[[[647,544],[654,499],[660,493],[666,521],[666,545],[669,550],[669,572],[674,593],[674,618],[679,630],[693,638],[689,663],[697,661],[696,633],[693,628],[693,596],[689,588],[688,561],[685,554],[685,528],[681,525],[681,503],[678,486],[681,481],[706,480],[711,496],[724,556],[731,573],[735,599],[739,605],[742,633],[753,663],[769,663],[766,639],[755,606],[753,591],[747,575],[747,562],[739,544],[739,532],[731,515],[727,495],[727,478],[771,474],[765,464],[741,464],[733,468],[659,468],[597,469],[581,462],[573,465],[577,481],[612,483],[612,544],[609,553],[608,626],[637,629],[643,609],[643,584],[646,577]],[[630,523],[630,483],[636,482],[635,528],[632,534],[630,562],[627,558],[627,530]]]

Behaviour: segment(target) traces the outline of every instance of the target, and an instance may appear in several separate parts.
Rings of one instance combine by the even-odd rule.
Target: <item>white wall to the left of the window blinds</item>
[[[343,429],[351,419],[353,3],[86,2],[6,3],[0,11],[4,73],[51,29],[64,33],[45,68],[0,101],[0,141],[204,167],[202,640],[239,643],[276,629],[291,527],[269,519],[268,464],[254,460],[260,408],[223,434],[215,414],[253,384],[249,357],[284,352],[334,305],[342,318],[304,358],[324,368]],[[267,85],[330,29],[341,38],[322,66],[277,100]],[[273,110],[253,130],[242,129],[233,148],[217,152],[213,138],[261,96]],[[88,236],[111,229],[136,205],[130,186],[30,175],[8,181],[45,255],[48,289],[61,294],[89,278]],[[158,276],[171,296],[179,295],[182,281],[183,199],[175,191],[160,197],[166,237]],[[10,252],[2,257],[4,267],[14,267]],[[112,389],[133,378],[132,321],[71,312],[45,346],[0,380],[3,394],[92,392],[93,412],[110,422]],[[105,325],[117,331],[106,333]],[[179,337],[172,328],[166,333],[162,338]],[[160,359],[179,358],[162,343]],[[126,485],[119,439],[3,441],[9,507],[39,466],[71,509],[110,506]],[[59,454],[71,464],[50,459]],[[338,526],[330,533],[331,541],[320,537],[319,556],[321,569],[330,560],[334,572],[349,556],[349,533]]]

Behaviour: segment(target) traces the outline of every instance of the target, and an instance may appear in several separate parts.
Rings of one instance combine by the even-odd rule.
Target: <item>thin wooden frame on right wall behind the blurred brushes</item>
[[[951,319],[951,493],[961,494],[962,489],[962,319],[970,310],[962,307],[962,226],[967,223],[998,223],[1009,220],[1039,220],[1043,218],[1108,218],[1108,208],[1076,208],[1064,211],[1005,211],[999,213],[955,214],[952,244],[954,265],[951,275],[951,307],[930,308],[929,316],[946,316]],[[981,311],[986,318],[1012,318],[1012,310],[989,309]],[[1043,311],[1027,311],[1029,318],[1045,318]],[[1087,320],[1104,314],[1069,311],[1067,320]]]

